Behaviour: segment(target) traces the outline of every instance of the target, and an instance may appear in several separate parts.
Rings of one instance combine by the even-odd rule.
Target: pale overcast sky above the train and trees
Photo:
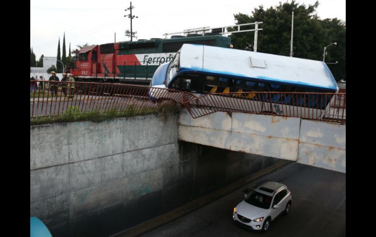
[[[234,14],[251,15],[254,8],[279,5],[286,0],[132,0],[133,31],[138,39],[164,38],[164,33],[180,32],[198,27],[221,27],[235,24]],[[313,4],[316,0],[297,0]],[[290,2],[290,0],[289,0]],[[77,44],[102,44],[128,41],[125,30],[130,20],[125,18],[130,1],[125,0],[30,0],[30,47],[37,56],[57,56],[63,49],[65,32],[66,54]],[[321,19],[346,21],[345,0],[319,0],[317,15]],[[262,24],[260,25],[262,27]],[[262,34],[262,31],[261,31]]]

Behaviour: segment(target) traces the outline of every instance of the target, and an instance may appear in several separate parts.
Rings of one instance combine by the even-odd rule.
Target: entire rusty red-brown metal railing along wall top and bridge
[[[129,108],[137,112],[178,103],[193,118],[224,111],[346,123],[346,93],[231,92],[195,96],[174,89],[124,84],[36,82],[39,89],[31,94],[31,117],[60,115],[72,107],[82,112]]]

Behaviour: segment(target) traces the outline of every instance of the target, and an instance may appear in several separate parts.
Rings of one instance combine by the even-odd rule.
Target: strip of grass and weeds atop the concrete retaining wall
[[[159,114],[164,119],[164,121],[167,121],[168,117],[174,114],[178,114],[180,109],[181,105],[175,103],[161,103],[155,108],[136,108],[133,105],[129,105],[122,111],[119,111],[118,108],[113,108],[105,112],[99,110],[82,112],[78,107],[70,107],[62,115],[39,116],[30,118],[30,125],[67,123],[77,121],[102,122],[114,118],[132,117],[147,114]]]

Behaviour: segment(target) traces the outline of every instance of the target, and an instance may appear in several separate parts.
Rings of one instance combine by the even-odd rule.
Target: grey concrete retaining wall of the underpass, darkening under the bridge
[[[54,237],[109,236],[278,162],[177,137],[178,116],[30,127],[30,214]]]

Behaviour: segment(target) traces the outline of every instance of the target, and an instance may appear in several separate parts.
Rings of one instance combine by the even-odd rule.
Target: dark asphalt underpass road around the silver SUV
[[[287,185],[292,192],[291,213],[274,219],[266,233],[233,223],[232,209],[244,198],[242,191],[265,181]],[[343,237],[345,229],[346,174],[292,162],[143,237]]]

